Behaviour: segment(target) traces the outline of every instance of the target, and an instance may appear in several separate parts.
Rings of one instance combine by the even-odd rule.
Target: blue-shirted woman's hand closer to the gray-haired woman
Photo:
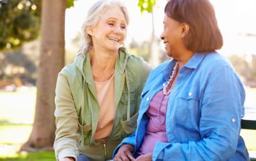
[[[134,147],[131,144],[124,144],[120,149],[118,149],[118,153],[114,157],[114,161],[129,161],[135,160],[131,152],[133,152]]]

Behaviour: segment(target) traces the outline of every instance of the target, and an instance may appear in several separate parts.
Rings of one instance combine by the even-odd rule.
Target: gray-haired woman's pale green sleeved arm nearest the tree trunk
[[[56,157],[76,157],[78,152],[78,116],[66,75],[59,73],[56,83]]]

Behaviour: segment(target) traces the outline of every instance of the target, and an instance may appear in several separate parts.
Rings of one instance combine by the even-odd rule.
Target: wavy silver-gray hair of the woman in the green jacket
[[[100,0],[87,12],[87,17],[81,27],[81,41],[82,45],[79,48],[79,53],[86,55],[92,50],[92,37],[87,33],[87,27],[93,27],[99,22],[100,16],[106,12],[111,6],[118,6],[125,15],[126,24],[129,24],[128,10],[122,1],[118,0]]]

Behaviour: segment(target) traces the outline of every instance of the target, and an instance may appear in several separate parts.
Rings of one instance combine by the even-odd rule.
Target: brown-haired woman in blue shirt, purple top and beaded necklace
[[[137,129],[114,160],[249,160],[239,136],[244,87],[216,50],[223,45],[208,0],[171,0],[164,41],[173,59],[151,71],[141,93]]]

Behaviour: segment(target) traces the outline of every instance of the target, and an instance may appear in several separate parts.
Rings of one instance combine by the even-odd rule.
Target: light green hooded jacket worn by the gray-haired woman
[[[77,158],[79,153],[91,160],[111,159],[115,147],[136,129],[141,91],[151,69],[141,57],[120,48],[115,61],[116,111],[112,132],[105,142],[94,142],[100,108],[89,54],[79,54],[74,63],[66,65],[58,74],[56,83],[54,149],[57,159]],[[102,156],[92,155],[100,150]]]

